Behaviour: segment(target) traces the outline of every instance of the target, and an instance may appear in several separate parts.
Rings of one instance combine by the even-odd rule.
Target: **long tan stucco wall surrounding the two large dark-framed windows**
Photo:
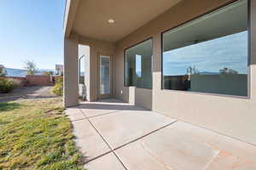
[[[160,33],[228,2],[230,1],[184,0],[118,42],[115,51],[116,97],[129,101],[129,88],[124,87],[124,49],[153,37],[153,111],[256,144],[256,1],[252,0],[251,4],[250,99],[160,89]]]

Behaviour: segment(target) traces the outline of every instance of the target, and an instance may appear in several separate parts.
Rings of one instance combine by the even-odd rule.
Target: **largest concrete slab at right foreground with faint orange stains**
[[[116,150],[132,170],[253,170],[256,147],[185,122]]]

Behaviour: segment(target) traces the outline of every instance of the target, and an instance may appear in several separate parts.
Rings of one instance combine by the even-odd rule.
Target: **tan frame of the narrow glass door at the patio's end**
[[[101,94],[101,56],[109,57],[109,94]],[[97,54],[97,99],[107,99],[113,97],[113,55],[112,54],[104,54],[98,53]]]

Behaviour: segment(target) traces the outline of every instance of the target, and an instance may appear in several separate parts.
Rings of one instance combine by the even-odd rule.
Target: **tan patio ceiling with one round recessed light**
[[[83,37],[117,42],[181,1],[67,0],[65,36],[74,31]]]

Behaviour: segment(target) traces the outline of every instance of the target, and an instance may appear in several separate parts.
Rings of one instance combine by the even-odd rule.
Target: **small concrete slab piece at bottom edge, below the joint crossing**
[[[117,159],[113,153],[99,157],[94,161],[90,161],[84,166],[87,170],[125,170],[125,167]]]

